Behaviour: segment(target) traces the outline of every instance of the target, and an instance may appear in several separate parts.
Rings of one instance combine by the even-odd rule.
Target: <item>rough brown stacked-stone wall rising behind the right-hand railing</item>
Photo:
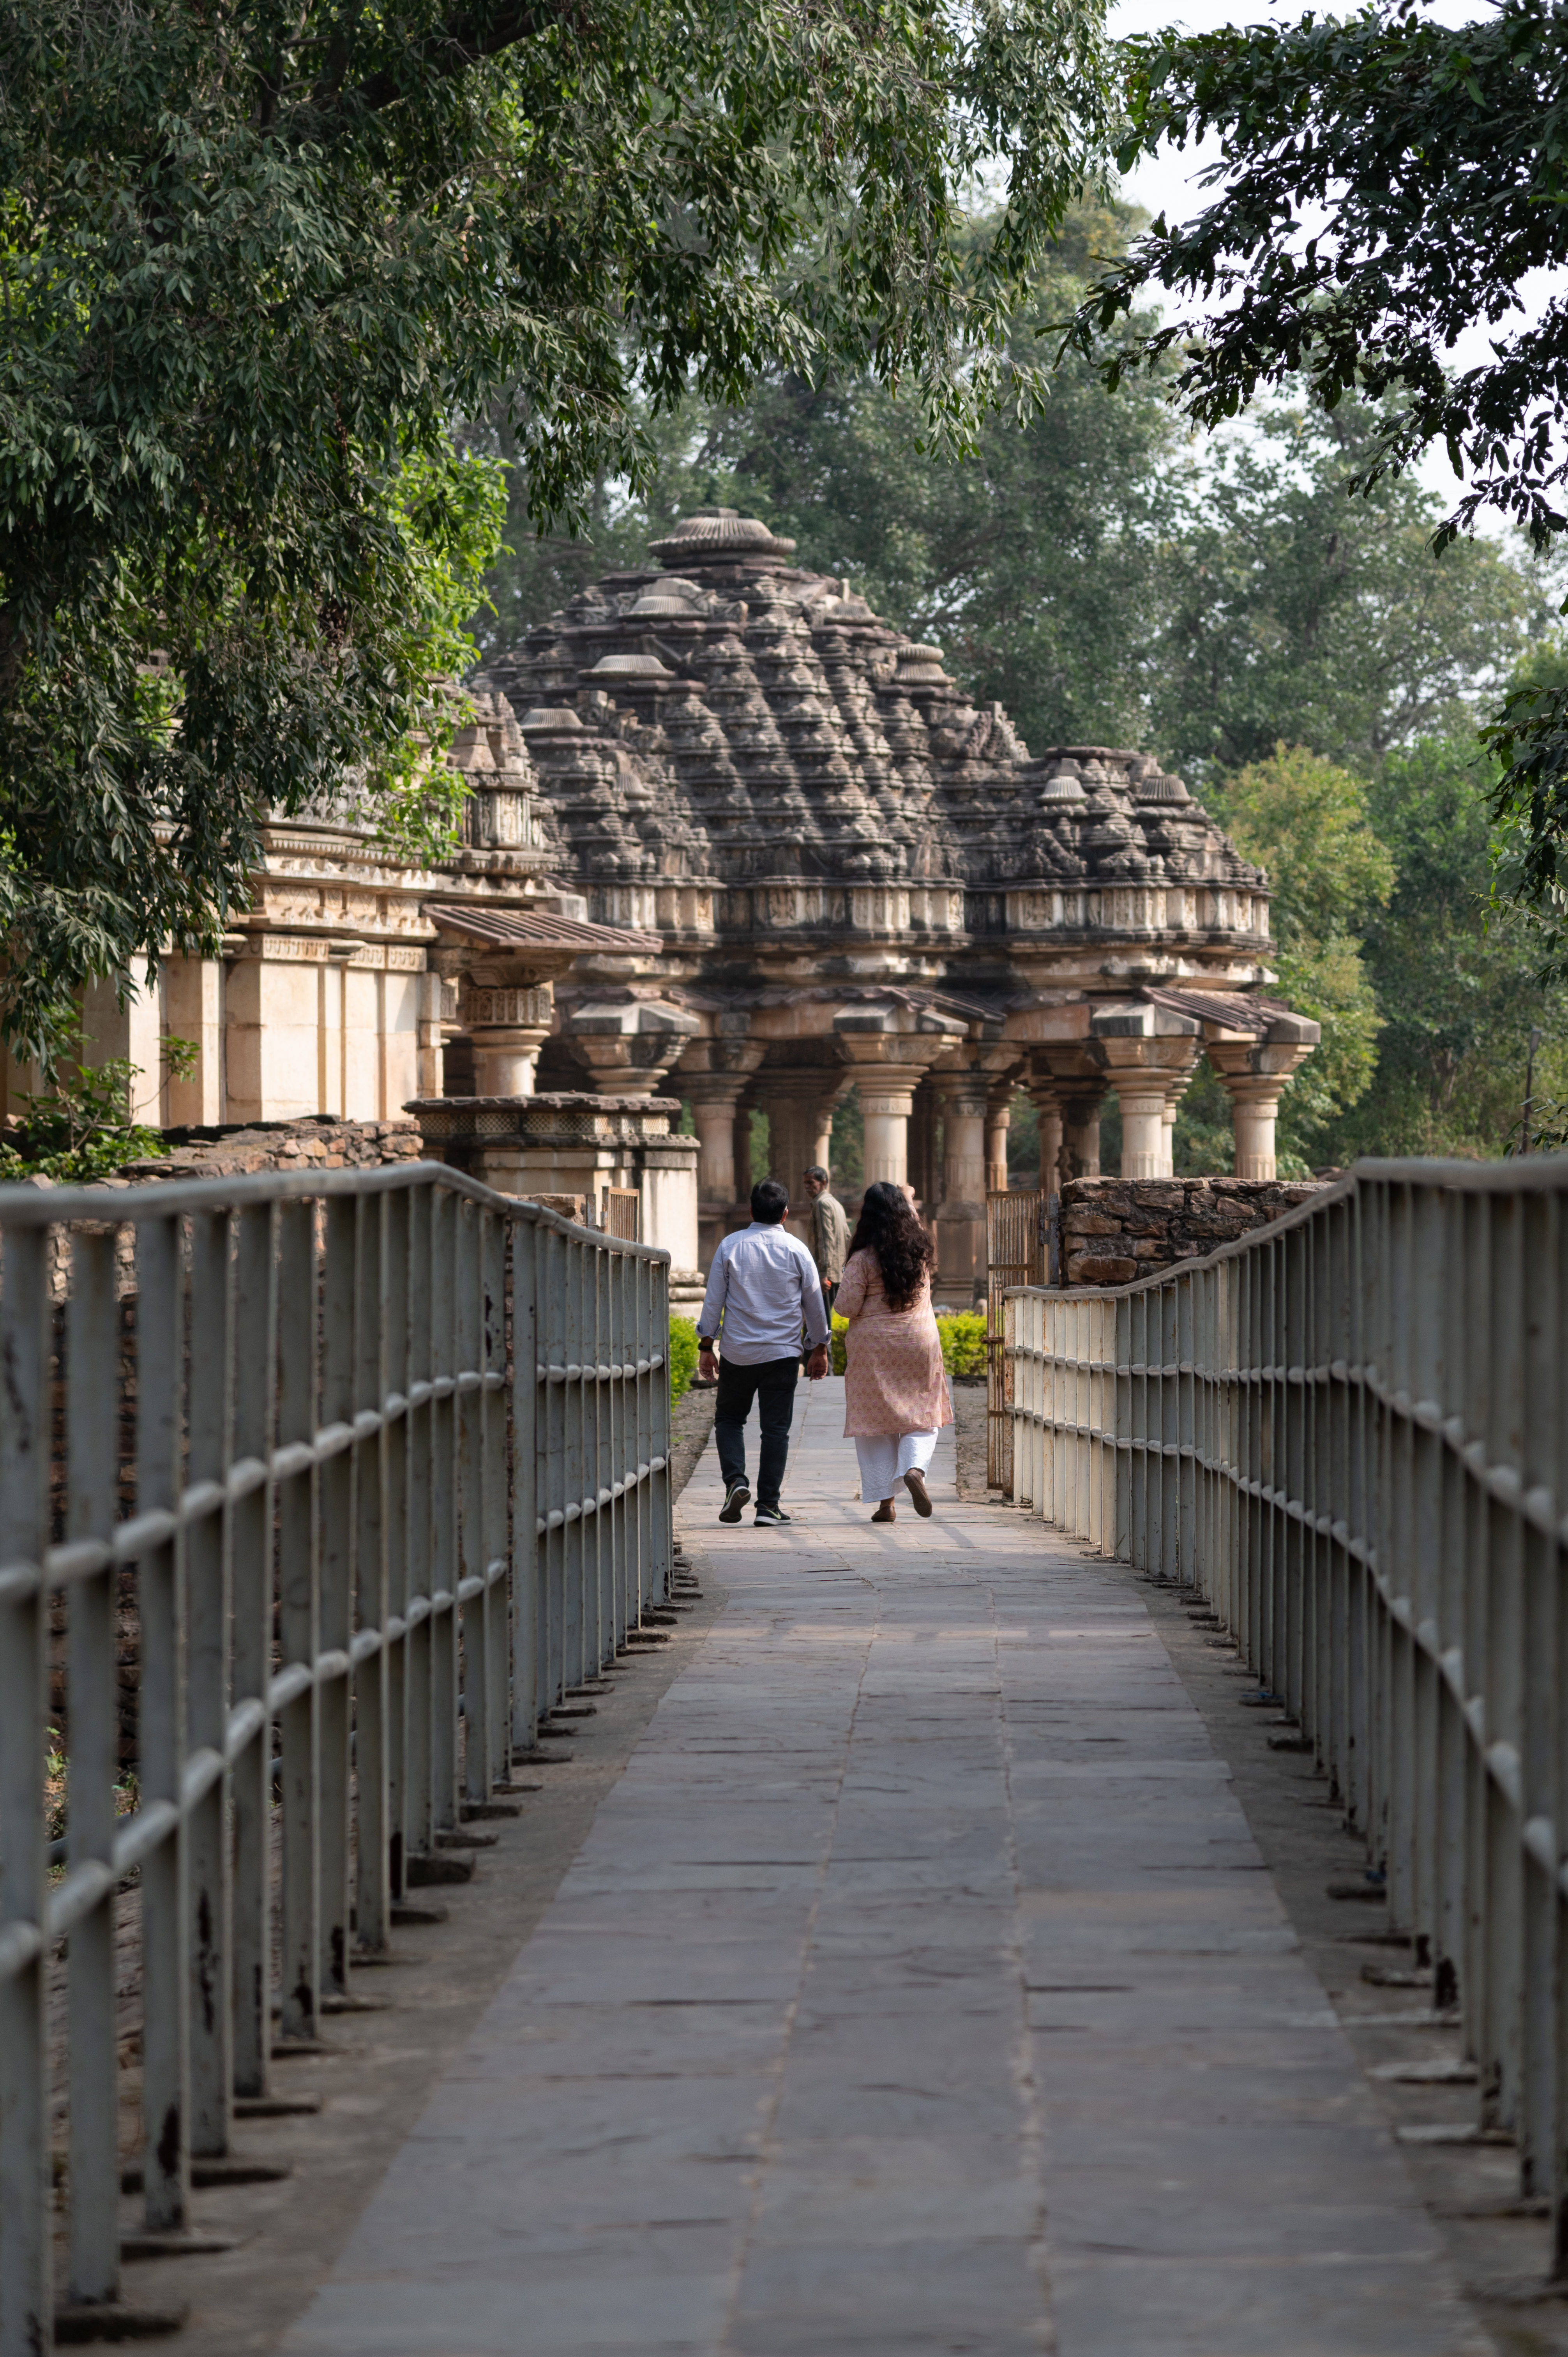
[[[1320,1178],[1068,1178],[1061,1282],[1132,1285],[1198,1261],[1323,1190]]]

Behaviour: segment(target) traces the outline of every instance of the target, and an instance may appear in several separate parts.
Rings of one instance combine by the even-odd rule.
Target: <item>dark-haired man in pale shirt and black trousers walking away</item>
[[[698,1374],[714,1379],[714,1339],[722,1339],[719,1398],[712,1435],[724,1475],[722,1523],[738,1523],[750,1499],[745,1483],[745,1419],[757,1400],[762,1450],[757,1457],[757,1513],[762,1525],[788,1523],[778,1504],[790,1461],[799,1336],[806,1329],[806,1376],[828,1374],[828,1308],[816,1261],[783,1226],[790,1197],[778,1178],[752,1188],[752,1223],[726,1235],[707,1273],[707,1296],[698,1318]]]

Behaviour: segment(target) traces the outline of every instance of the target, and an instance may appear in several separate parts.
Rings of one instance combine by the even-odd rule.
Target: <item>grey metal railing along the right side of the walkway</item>
[[[1365,1162],[1205,1261],[1014,1292],[1014,1483],[1212,1598],[1462,2008],[1568,2263],[1568,1160]]]

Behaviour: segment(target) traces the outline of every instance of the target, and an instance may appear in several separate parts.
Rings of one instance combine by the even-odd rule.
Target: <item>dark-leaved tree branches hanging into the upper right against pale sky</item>
[[[1120,165],[1219,132],[1217,198],[1158,219],[1080,304],[1068,349],[1108,384],[1181,356],[1188,417],[1236,417],[1302,372],[1332,412],[1372,410],[1356,474],[1368,490],[1441,443],[1467,478],[1438,554],[1497,509],[1547,547],[1566,526],[1568,299],[1514,325],[1518,285],[1568,259],[1568,24],[1544,0],[1436,24],[1417,0],[1287,28],[1162,33],[1122,47]],[[1151,288],[1177,316],[1137,337]],[[1452,370],[1485,323],[1490,358]],[[1488,731],[1511,858],[1504,889],[1549,912],[1561,966],[1568,905],[1568,688],[1521,681]]]

